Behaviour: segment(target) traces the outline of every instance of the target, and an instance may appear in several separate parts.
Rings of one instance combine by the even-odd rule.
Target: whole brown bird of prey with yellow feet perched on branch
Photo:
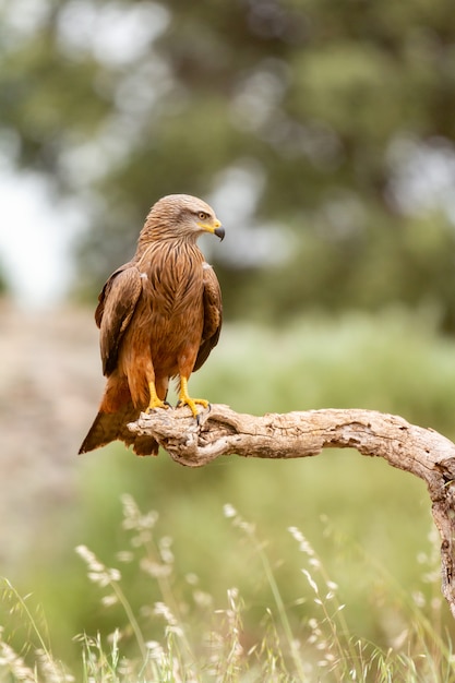
[[[208,204],[188,194],[160,199],[148,213],[133,259],[104,286],[95,321],[107,382],[80,453],[118,439],[137,455],[156,455],[157,442],[127,426],[141,411],[168,408],[171,378],[179,381],[178,405],[189,406],[194,417],[197,405],[208,406],[188,394],[190,374],[206,361],[221,327],[219,284],[196,244],[204,232],[225,236]]]

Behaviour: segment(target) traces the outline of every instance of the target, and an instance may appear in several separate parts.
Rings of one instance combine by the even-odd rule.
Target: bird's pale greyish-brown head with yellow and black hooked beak
[[[148,213],[140,239],[183,239],[194,242],[203,232],[212,232],[224,239],[214,209],[190,194],[168,194],[158,200]]]

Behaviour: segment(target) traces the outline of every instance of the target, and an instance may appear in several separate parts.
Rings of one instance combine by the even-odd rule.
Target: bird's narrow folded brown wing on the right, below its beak
[[[218,344],[223,323],[221,290],[218,278],[208,263],[203,263],[203,273],[204,327],[193,371],[199,370],[205,363],[212,349]]]

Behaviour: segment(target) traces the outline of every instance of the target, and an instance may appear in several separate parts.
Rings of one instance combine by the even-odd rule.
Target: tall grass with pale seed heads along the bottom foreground
[[[421,556],[421,590],[408,595],[376,563],[386,588],[395,595],[395,619],[402,623],[387,648],[356,633],[343,589],[327,572],[303,531],[283,529],[294,548],[291,572],[300,576],[299,594],[286,601],[271,561],[268,541],[256,526],[226,504],[224,516],[258,563],[268,600],[246,603],[236,586],[226,586],[224,603],[204,590],[199,577],[188,574],[172,539],[159,532],[156,512],[143,514],[131,495],[122,496],[125,546],[118,549],[117,566],[109,567],[85,546],[76,548],[87,579],[98,590],[103,611],[115,611],[110,632],[95,630],[75,636],[80,667],[69,670],[52,654],[52,633],[43,614],[31,607],[3,579],[5,618],[0,631],[0,681],[63,683],[172,682],[406,682],[448,683],[455,678],[451,642],[441,631],[441,601],[434,600],[433,619],[422,610],[428,585],[438,588],[438,553]],[[336,532],[325,520],[326,534]],[[434,539],[435,540],[435,539]],[[348,539],[343,539],[348,543]],[[435,547],[435,542],[431,548]],[[358,549],[350,549],[357,552]],[[368,558],[364,558],[368,565]],[[134,606],[125,567],[146,578],[142,601]],[[82,571],[82,566],[81,566]],[[153,589],[152,589],[153,586]],[[149,590],[147,588],[149,587]],[[152,599],[155,589],[158,599]],[[399,599],[397,601],[397,598]],[[380,599],[379,595],[375,598]],[[367,609],[367,608],[366,608]],[[384,614],[391,612],[383,604]],[[394,628],[391,628],[391,633]]]

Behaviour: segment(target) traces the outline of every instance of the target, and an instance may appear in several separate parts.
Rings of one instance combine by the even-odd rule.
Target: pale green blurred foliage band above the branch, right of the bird
[[[376,315],[314,313],[279,329],[226,326],[194,394],[262,415],[309,408],[398,412],[454,438],[453,343],[432,307]],[[419,387],[424,390],[419,391]]]

